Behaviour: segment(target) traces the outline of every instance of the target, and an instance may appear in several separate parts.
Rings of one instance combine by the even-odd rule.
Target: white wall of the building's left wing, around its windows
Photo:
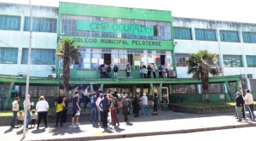
[[[30,16],[28,5],[0,3],[1,15],[20,16],[20,31],[0,30],[0,47],[19,48],[17,64],[0,64],[1,75],[26,74],[27,65],[21,64],[22,48],[29,48],[29,31],[23,31],[25,17]],[[53,7],[32,7],[32,16],[38,18],[58,18],[58,8]],[[32,48],[56,49],[57,33],[32,32]],[[31,65],[30,76],[46,77],[51,74],[51,65]]]

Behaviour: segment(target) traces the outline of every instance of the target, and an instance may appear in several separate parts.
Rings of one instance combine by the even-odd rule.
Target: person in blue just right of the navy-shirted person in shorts
[[[96,93],[92,93],[92,97],[90,97],[90,122],[93,124],[93,121],[97,122],[97,107],[96,107]]]

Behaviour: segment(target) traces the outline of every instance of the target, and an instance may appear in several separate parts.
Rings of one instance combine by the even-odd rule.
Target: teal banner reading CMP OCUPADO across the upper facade
[[[154,36],[154,26],[143,26],[126,23],[77,21],[77,31],[101,31],[125,33],[140,36]]]

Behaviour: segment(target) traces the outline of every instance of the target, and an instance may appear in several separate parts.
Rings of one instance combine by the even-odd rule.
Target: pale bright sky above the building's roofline
[[[3,3],[27,3],[29,0],[0,0]],[[58,6],[59,0],[31,0],[34,5]],[[172,11],[172,16],[207,20],[226,20],[256,24],[254,0],[61,0],[130,8]]]

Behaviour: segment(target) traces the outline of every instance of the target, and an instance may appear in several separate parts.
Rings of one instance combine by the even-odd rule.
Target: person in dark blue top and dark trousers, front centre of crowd
[[[108,127],[108,111],[109,111],[108,105],[110,105],[110,104],[108,104],[109,102],[108,102],[107,94],[104,94],[103,97],[104,97],[104,99],[102,99],[102,101],[99,104],[103,110],[103,124],[102,125],[103,125],[103,127]]]

